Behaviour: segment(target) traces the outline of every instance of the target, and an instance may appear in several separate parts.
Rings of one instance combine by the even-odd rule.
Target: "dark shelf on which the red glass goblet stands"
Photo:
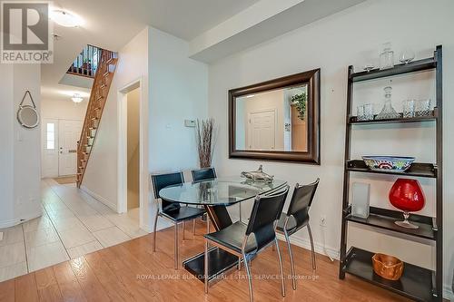
[[[396,225],[394,222],[403,220],[403,216],[400,211],[391,209],[380,209],[370,207],[370,215],[368,219],[362,219],[360,217],[352,216],[350,214],[349,209],[345,219],[347,219],[348,221],[368,225],[374,228],[389,229],[394,232],[407,234],[410,236],[415,236],[423,239],[429,240],[436,239],[436,230],[432,229],[433,226],[432,218],[428,216],[410,214],[410,222],[419,226],[419,229],[405,229]]]

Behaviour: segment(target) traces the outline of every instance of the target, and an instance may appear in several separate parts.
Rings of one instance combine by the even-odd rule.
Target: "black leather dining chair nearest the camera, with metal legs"
[[[289,187],[270,197],[257,196],[251,212],[251,218],[246,225],[241,221],[233,223],[231,226],[221,229],[217,232],[206,234],[205,237],[205,263],[204,263],[204,281],[205,293],[208,293],[209,276],[208,263],[209,254],[208,246],[212,244],[222,248],[239,258],[242,258],[249,281],[249,297],[253,301],[252,275],[248,261],[252,260],[258,253],[265,248],[275,245],[278,251],[279,267],[281,270],[281,291],[282,297],[285,297],[285,284],[282,268],[281,252],[279,250],[278,239],[276,238],[276,223],[281,215],[281,211],[289,192]],[[251,236],[251,234],[253,236]]]

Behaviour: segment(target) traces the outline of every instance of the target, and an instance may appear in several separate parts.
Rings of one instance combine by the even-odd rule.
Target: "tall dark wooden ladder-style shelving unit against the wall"
[[[423,71],[435,70],[436,84],[436,106],[429,116],[403,118],[390,120],[371,120],[358,121],[355,116],[351,115],[352,93],[354,83],[361,81],[370,81],[401,75],[405,73],[416,73]],[[415,162],[411,164],[409,170],[405,172],[398,171],[379,171],[370,170],[364,161],[350,159],[351,151],[351,130],[358,125],[372,125],[384,123],[400,122],[434,122],[436,135],[436,163]],[[347,117],[346,117],[346,137],[345,137],[345,167],[344,167],[344,184],[342,200],[342,229],[341,229],[341,264],[339,269],[339,278],[345,278],[345,274],[350,274],[361,278],[367,282],[375,284],[398,293],[405,297],[410,297],[416,301],[442,301],[442,260],[443,260],[443,235],[442,235],[442,47],[437,46],[432,58],[414,61],[407,64],[398,64],[394,68],[387,70],[374,69],[370,72],[353,73],[353,66],[349,66],[348,89],[347,89]],[[371,174],[393,174],[405,177],[423,177],[431,178],[436,181],[436,217],[427,217],[421,215],[410,215],[412,223],[419,226],[419,229],[404,229],[397,226],[394,222],[402,219],[400,211],[390,209],[380,209],[370,207],[370,216],[368,219],[360,219],[351,215],[350,200],[350,173],[371,173]],[[387,198],[387,197],[384,197]],[[349,223],[358,223],[370,226],[374,229],[386,229],[390,234],[404,234],[406,239],[427,239],[434,241],[436,246],[436,268],[434,271],[427,268],[405,263],[404,273],[398,281],[390,281],[380,278],[374,273],[372,268],[372,256],[374,252],[361,248],[351,247],[347,251],[347,233]],[[401,236],[401,235],[400,235]]]

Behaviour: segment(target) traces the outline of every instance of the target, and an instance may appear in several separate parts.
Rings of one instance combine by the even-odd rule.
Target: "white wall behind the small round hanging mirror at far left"
[[[40,111],[40,74],[39,64],[0,64],[0,229],[42,214],[40,127],[25,129],[15,118],[27,89]]]

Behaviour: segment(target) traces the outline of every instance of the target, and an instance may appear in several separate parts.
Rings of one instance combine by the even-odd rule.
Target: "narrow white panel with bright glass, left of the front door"
[[[42,177],[58,176],[58,120],[43,120]]]

